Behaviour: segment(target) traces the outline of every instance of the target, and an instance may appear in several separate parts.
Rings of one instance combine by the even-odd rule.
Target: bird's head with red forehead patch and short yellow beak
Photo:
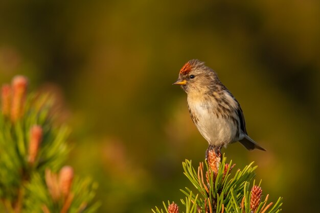
[[[181,85],[181,88],[188,93],[210,89],[217,81],[219,81],[218,77],[211,68],[205,66],[204,62],[192,59],[182,66],[179,78],[173,84]]]

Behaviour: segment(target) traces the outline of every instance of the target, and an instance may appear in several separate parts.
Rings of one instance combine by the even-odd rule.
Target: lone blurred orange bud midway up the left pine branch
[[[29,144],[29,163],[33,164],[38,152],[39,147],[42,141],[42,128],[40,126],[33,126],[30,130],[30,144]]]

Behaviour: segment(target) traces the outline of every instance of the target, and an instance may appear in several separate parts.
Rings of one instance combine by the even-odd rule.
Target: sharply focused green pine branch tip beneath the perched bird
[[[207,155],[208,157],[209,155]],[[246,165],[242,170],[238,169],[232,176],[231,171],[235,164],[226,163],[226,157],[222,157],[217,165],[217,170],[212,170],[212,165],[200,162],[198,169],[195,170],[191,160],[182,162],[184,174],[195,187],[197,193],[193,193],[190,188],[180,190],[186,197],[181,200],[182,205],[186,207],[185,212],[191,212],[190,204],[193,204],[192,212],[222,212],[222,213],[278,213],[281,211],[282,198],[276,203],[268,203],[268,195],[261,201],[262,190],[259,185],[253,181],[257,166],[253,163]],[[205,171],[204,171],[205,165]],[[215,164],[214,164],[215,165]],[[231,166],[232,165],[232,166]],[[253,181],[253,187],[249,190],[250,182]],[[168,202],[168,206],[169,206]],[[164,204],[165,211],[168,207]],[[195,211],[196,209],[196,211]],[[164,212],[163,209],[152,209],[154,213]]]

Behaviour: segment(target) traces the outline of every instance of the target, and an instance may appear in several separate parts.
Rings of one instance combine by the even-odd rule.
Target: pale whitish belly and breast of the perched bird
[[[208,107],[201,102],[189,104],[190,110],[197,116],[195,125],[208,143],[214,146],[226,146],[235,141],[237,127],[232,120],[221,115],[217,116],[214,107],[214,104]]]

